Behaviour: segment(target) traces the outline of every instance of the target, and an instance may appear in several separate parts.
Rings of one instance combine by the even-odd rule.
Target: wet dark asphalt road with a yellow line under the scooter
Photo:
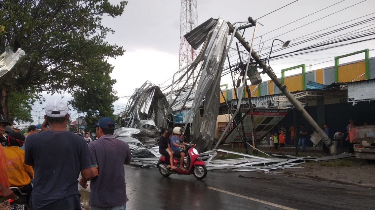
[[[156,168],[125,166],[125,176],[127,210],[375,209],[375,189],[275,173],[216,170],[198,180],[193,175],[163,177]],[[87,206],[89,192],[81,194],[82,204]]]

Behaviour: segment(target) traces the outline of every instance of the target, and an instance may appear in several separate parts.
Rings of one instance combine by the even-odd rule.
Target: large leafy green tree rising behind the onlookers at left
[[[101,17],[121,15],[126,3],[0,1],[0,24],[5,31],[0,33],[0,52],[6,46],[26,52],[13,70],[0,78],[0,112],[8,117],[10,97],[25,91],[31,96],[42,91],[69,92],[78,108],[82,108],[80,100],[90,98],[95,105],[92,109],[98,108],[96,115],[113,111],[115,80],[109,76],[113,66],[107,59],[123,55],[124,50],[105,41],[107,33],[114,31],[102,25]],[[96,95],[104,93],[107,95],[102,98]]]

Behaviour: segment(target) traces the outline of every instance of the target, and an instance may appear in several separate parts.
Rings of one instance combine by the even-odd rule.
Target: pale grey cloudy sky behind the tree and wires
[[[263,26],[258,25],[255,35],[257,38],[254,42],[255,51],[260,51],[259,44],[261,42],[264,43],[264,45],[262,44],[263,50],[261,54],[264,54],[269,52],[269,49],[266,48],[270,48],[273,39],[278,38],[284,41],[291,40],[290,49],[286,48],[280,52],[275,52],[281,48],[280,45],[276,45],[279,43],[275,41],[272,53],[274,56],[283,52],[298,50],[302,47],[324,41],[314,40],[305,44],[292,46],[293,43],[300,41],[296,39],[298,37],[308,34],[311,34],[309,36],[312,36],[325,33],[332,30],[331,27],[336,29],[339,27],[344,27],[345,25],[350,25],[354,22],[373,18],[375,16],[375,14],[369,15],[374,13],[375,1],[373,0],[299,0],[276,12],[266,15],[267,13],[293,1],[295,0],[197,0],[198,23],[200,24],[211,17],[218,18],[219,16],[222,16],[225,21],[230,21],[232,23],[247,21],[249,16],[254,19],[258,19],[258,22],[263,24]],[[110,2],[113,4],[118,4],[120,1],[110,0]],[[326,7],[329,8],[324,9]],[[322,11],[317,12],[319,10]],[[314,12],[317,13],[303,18],[304,16]],[[161,84],[171,78],[174,72],[178,70],[180,13],[181,1],[179,0],[129,0],[122,16],[117,18],[105,17],[103,19],[102,23],[105,26],[115,30],[114,34],[107,35],[107,41],[112,44],[123,46],[126,50],[123,56],[117,57],[116,59],[110,59],[110,63],[114,65],[114,70],[111,77],[117,80],[117,84],[115,84],[114,89],[117,90],[118,96],[123,97],[132,95],[134,89],[141,86],[146,80],[154,84]],[[260,18],[263,15],[266,16]],[[369,16],[353,21],[353,19],[360,18],[364,15]],[[300,18],[303,19],[296,21]],[[291,23],[293,21],[296,22]],[[348,23],[342,24],[345,22]],[[342,25],[336,28],[333,27],[338,24]],[[282,27],[284,25],[287,26]],[[353,30],[374,31],[371,29],[374,28],[371,27],[371,25],[372,23],[369,22],[368,24],[363,24],[358,28],[350,28],[336,34],[332,34],[329,37],[336,35],[345,36],[347,33],[352,33]],[[277,29],[279,27],[282,28]],[[246,30],[244,34],[246,40],[251,40],[253,30],[253,28],[248,28]],[[317,31],[320,32],[315,33]],[[374,37],[374,35],[370,37]],[[331,60],[335,56],[356,52],[366,48],[369,48],[370,50],[374,49],[375,41],[371,40],[363,43],[336,47],[320,52],[294,56],[293,58],[278,59],[275,61],[270,61],[270,64],[272,65],[276,74],[281,72],[281,69],[283,68],[300,64],[306,64],[306,67],[312,65],[311,69],[307,68],[307,71],[309,71],[333,66],[334,62]],[[267,55],[265,54],[265,56]],[[372,56],[375,56],[374,51],[370,51],[370,57]],[[340,59],[340,63],[355,61],[363,58],[363,54],[351,56],[348,58],[343,58],[342,60]],[[298,72],[291,72],[290,74],[296,73]],[[230,84],[229,78],[222,79],[222,84],[225,83]],[[63,98],[63,100],[69,100],[71,99],[71,96],[68,93],[63,95],[54,95],[53,97],[46,96],[47,100],[52,98]],[[115,102],[114,105],[116,112],[120,111],[126,102],[126,97],[120,98],[117,102]],[[43,105],[37,104],[35,105],[34,110],[38,111],[42,106]],[[38,114],[39,112],[33,113],[36,121]],[[72,112],[72,115],[75,114],[75,112]]]

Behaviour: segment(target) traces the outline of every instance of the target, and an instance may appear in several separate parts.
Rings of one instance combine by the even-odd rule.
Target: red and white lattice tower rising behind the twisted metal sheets
[[[185,67],[194,61],[198,53],[190,46],[184,37],[189,31],[198,26],[198,12],[196,9],[196,0],[181,0],[181,19],[180,19],[180,68]],[[182,75],[182,71],[179,75]],[[196,76],[193,74],[193,76]],[[187,77],[187,76],[186,76]]]

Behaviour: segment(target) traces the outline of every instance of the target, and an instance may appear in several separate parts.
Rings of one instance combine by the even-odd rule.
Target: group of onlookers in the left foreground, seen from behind
[[[66,130],[68,110],[61,100],[49,102],[40,132],[30,126],[26,135],[8,129],[0,114],[0,210],[17,199],[9,187],[27,194],[31,210],[81,209],[78,184],[87,188],[89,181],[92,210],[126,209],[123,165],[132,158],[129,145],[115,139],[110,117],[95,124],[92,138]]]

